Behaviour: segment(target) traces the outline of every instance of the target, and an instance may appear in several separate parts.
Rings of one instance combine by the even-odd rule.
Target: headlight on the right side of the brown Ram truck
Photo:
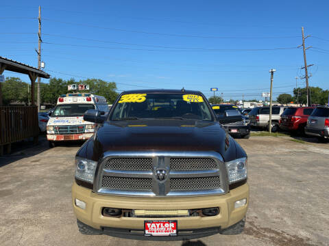
[[[247,158],[236,159],[225,164],[230,184],[247,178]]]

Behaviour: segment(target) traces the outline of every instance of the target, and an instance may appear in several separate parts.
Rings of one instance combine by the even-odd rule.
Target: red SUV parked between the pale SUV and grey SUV
[[[315,107],[289,107],[282,113],[279,127],[285,131],[299,131],[304,133],[307,118]]]

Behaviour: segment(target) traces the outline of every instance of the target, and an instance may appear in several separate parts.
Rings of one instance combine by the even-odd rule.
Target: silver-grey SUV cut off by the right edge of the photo
[[[308,117],[305,133],[318,137],[320,141],[329,139],[329,107],[321,106],[313,110]]]

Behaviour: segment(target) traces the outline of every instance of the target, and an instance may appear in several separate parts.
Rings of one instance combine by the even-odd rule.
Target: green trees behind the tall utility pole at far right
[[[325,105],[328,103],[328,93],[329,90],[322,90],[320,87],[309,87],[310,90],[310,103]],[[306,105],[306,88],[297,88],[293,90],[294,101],[297,102],[297,93],[300,92],[298,96],[298,103]]]

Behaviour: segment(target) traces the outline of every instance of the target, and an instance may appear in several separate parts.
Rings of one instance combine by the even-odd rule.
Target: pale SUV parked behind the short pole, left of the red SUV
[[[280,115],[287,107],[272,106],[272,126],[271,131],[275,133],[279,130]],[[249,112],[250,126],[259,128],[269,128],[269,107],[256,107]]]

